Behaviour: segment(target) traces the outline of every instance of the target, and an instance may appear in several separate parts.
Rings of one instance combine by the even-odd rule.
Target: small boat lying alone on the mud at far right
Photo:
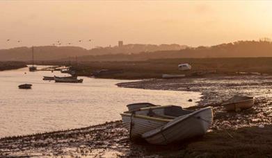
[[[239,112],[241,109],[248,109],[254,105],[254,96],[233,96],[229,100],[226,100],[222,103],[223,107],[227,111],[236,111]]]

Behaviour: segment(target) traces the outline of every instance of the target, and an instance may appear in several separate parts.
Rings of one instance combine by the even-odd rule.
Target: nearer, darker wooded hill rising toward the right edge
[[[126,54],[89,55],[78,60],[120,61],[149,60],[160,58],[239,58],[272,57],[272,42],[238,41],[216,46],[187,47],[178,51],[154,51]]]

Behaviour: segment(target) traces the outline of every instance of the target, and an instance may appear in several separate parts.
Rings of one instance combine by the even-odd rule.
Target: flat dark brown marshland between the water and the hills
[[[191,64],[191,71],[179,71],[177,65],[180,63]],[[95,71],[106,69],[109,71],[99,73],[97,77],[118,79],[161,78],[165,73],[186,74],[189,77],[250,75],[256,72],[258,75],[266,75],[272,74],[272,58],[177,58],[120,62],[72,62],[72,69],[76,70],[79,76],[91,76]]]

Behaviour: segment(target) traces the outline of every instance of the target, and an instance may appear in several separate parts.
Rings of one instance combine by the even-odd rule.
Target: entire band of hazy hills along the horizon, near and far
[[[272,42],[238,41],[215,46],[188,47],[178,44],[127,44],[83,49],[77,46],[35,46],[35,60],[136,61],[161,58],[272,57]],[[31,48],[0,50],[0,60],[31,60]]]

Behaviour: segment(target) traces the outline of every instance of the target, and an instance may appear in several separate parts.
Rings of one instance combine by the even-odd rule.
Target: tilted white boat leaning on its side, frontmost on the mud
[[[212,108],[205,107],[190,114],[179,116],[155,130],[145,132],[142,137],[148,143],[166,145],[205,134],[212,121]]]

